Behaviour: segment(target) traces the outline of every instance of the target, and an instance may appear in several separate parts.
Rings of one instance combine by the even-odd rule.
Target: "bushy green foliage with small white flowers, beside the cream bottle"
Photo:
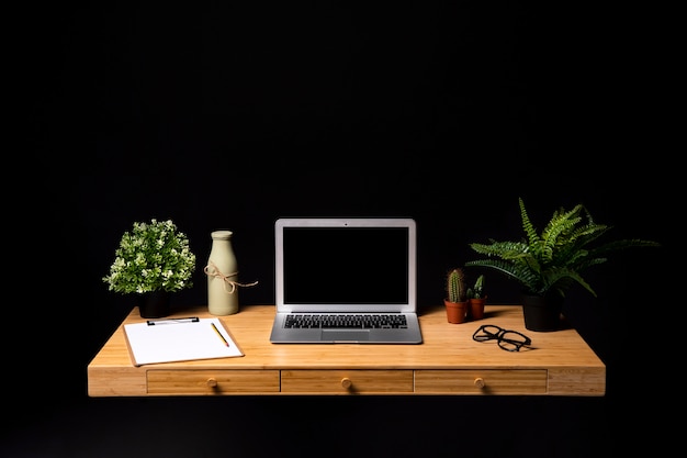
[[[193,286],[195,255],[187,235],[171,220],[135,222],[114,254],[110,275],[102,278],[110,291],[173,292]]]

